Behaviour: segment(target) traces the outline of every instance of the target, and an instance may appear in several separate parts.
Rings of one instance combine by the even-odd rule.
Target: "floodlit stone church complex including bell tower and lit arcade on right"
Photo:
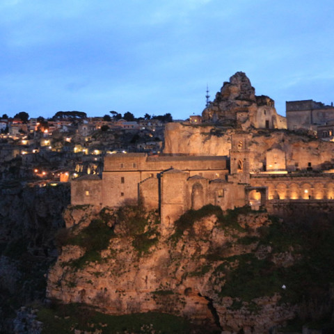
[[[294,173],[284,150],[265,152],[265,170],[254,171],[247,133],[233,134],[228,156],[159,156],[110,154],[102,178],[88,175],[72,181],[72,205],[121,207],[142,204],[157,209],[168,226],[188,209],[218,205],[223,210],[254,209],[280,200],[334,199],[333,170]],[[317,166],[315,166],[317,168]],[[325,173],[327,172],[327,173]]]

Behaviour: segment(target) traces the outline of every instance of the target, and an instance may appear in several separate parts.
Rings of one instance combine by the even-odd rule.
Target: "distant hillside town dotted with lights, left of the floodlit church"
[[[102,172],[106,154],[159,154],[170,114],[135,119],[115,111],[89,118],[79,111],[53,118],[29,118],[21,112],[0,120],[0,180],[22,180],[32,186],[56,185],[81,175]]]

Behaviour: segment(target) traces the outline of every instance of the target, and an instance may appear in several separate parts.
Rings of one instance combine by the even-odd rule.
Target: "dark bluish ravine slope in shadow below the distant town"
[[[0,186],[0,332],[13,333],[15,310],[45,299],[45,274],[56,259],[56,231],[65,226],[62,212],[70,186]]]

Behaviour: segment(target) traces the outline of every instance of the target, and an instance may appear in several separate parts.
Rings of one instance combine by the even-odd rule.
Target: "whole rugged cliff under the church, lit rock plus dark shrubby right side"
[[[69,207],[47,296],[112,315],[170,313],[205,326],[197,333],[260,334],[295,317],[319,321],[333,312],[334,229],[328,216],[306,217],[301,230],[292,216],[207,206],[162,237],[154,212]]]

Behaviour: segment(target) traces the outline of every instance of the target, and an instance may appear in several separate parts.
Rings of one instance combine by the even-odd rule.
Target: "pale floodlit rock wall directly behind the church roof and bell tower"
[[[165,154],[229,155],[231,136],[242,132],[231,127],[168,123],[165,131]],[[253,129],[246,132],[250,149],[250,166],[260,170],[266,162],[266,154],[276,148],[285,152],[287,170],[299,167],[333,168],[334,143],[319,141],[307,134],[285,129]]]

